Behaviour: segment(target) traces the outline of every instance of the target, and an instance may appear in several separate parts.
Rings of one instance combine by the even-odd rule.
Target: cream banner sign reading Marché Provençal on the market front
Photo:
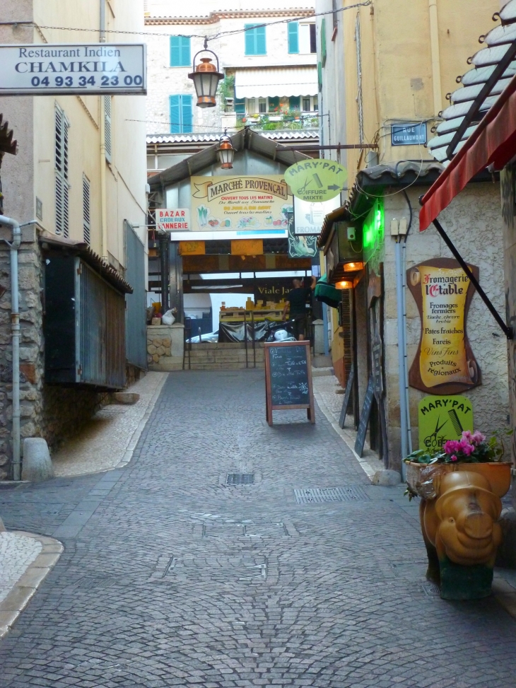
[[[285,235],[293,202],[283,175],[190,179],[194,231]]]

